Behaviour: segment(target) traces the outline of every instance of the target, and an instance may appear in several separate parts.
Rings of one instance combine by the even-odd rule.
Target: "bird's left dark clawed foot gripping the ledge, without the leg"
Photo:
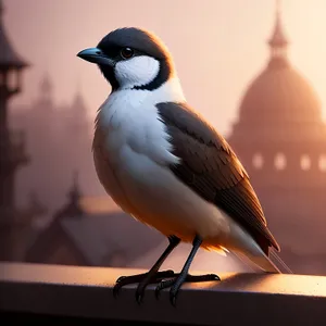
[[[156,272],[153,275],[151,275],[150,273],[143,273],[130,276],[121,276],[115,283],[113,294],[116,298],[122,287],[138,283],[138,287],[136,290],[136,300],[138,303],[140,303],[143,298],[146,287],[149,284],[159,283],[165,278],[170,278],[173,276],[175,276],[175,273],[172,269]]]

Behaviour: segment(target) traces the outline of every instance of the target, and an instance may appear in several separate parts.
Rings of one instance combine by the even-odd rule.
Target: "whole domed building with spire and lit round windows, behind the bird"
[[[326,126],[321,102],[287,57],[279,10],[271,57],[240,101],[228,141],[294,273],[326,274]]]

